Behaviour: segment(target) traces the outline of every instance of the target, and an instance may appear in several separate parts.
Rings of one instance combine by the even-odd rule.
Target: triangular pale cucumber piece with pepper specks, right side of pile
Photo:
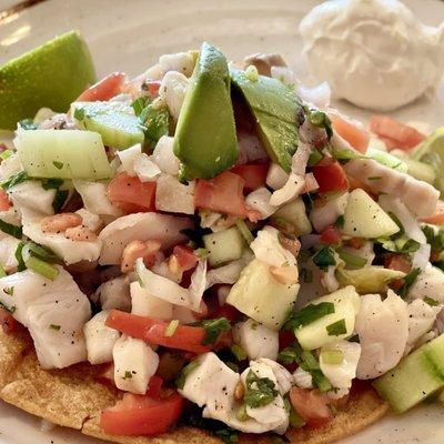
[[[353,238],[390,238],[400,228],[390,215],[364,191],[350,193],[344,212],[342,232]]]

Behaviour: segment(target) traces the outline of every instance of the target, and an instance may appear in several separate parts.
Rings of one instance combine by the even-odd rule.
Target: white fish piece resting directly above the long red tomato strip
[[[131,313],[170,321],[173,319],[173,304],[150,294],[139,282],[131,283]],[[193,321],[194,322],[194,321]]]

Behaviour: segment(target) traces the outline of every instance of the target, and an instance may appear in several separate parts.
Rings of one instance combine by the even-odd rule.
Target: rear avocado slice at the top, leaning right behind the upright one
[[[230,74],[234,88],[249,104],[270,158],[290,172],[291,158],[299,143],[297,115],[302,111],[294,90],[265,75],[252,78],[235,69]]]

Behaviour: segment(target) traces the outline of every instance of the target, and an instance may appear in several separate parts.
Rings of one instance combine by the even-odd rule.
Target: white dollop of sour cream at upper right
[[[444,23],[421,23],[397,0],[333,0],[300,24],[316,80],[336,98],[389,111],[438,85],[444,69]]]

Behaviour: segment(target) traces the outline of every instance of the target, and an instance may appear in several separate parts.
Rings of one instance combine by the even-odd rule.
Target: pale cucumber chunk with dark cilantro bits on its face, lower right
[[[334,313],[326,314],[319,320],[301,326],[294,334],[304,350],[315,350],[337,340],[350,337],[353,334],[356,313],[361,306],[360,295],[351,285],[311,302],[317,305],[321,302],[334,304]],[[340,335],[329,335],[327,326],[344,320],[346,332]]]

